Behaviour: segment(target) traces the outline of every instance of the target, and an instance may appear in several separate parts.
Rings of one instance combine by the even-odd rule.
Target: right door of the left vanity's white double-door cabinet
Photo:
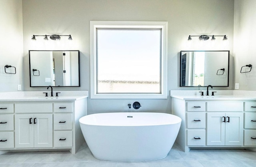
[[[34,147],[52,147],[52,114],[35,114]]]

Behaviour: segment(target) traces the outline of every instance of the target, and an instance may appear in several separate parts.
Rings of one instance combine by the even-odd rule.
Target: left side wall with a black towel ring
[[[0,92],[17,91],[23,86],[22,0],[0,0],[0,33]],[[6,74],[5,65],[16,67],[16,74]]]

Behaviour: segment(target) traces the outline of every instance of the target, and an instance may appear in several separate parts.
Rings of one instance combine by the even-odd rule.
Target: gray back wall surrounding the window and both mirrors
[[[102,21],[167,21],[168,22],[168,91],[193,89],[179,87],[180,50],[230,50],[231,79],[234,88],[233,27],[234,0],[23,0],[24,37],[24,88],[26,91],[46,90],[29,87],[28,50],[80,50],[81,87],[54,87],[54,90],[90,90],[90,20]],[[32,35],[72,35],[69,43],[62,37],[58,43],[45,42]],[[188,35],[227,35],[199,42]],[[6,86],[7,87],[7,86]],[[199,89],[199,88],[196,88]],[[200,88],[205,89],[205,88]],[[128,111],[127,104],[139,101],[140,111],[167,112],[171,110],[168,99],[90,99],[88,113]]]

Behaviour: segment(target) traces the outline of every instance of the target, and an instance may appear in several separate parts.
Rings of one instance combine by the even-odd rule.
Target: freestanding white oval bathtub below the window
[[[181,119],[167,113],[96,113],[79,119],[94,157],[110,161],[144,161],[167,156]]]

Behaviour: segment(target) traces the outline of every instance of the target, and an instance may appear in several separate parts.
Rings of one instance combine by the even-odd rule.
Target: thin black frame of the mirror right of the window
[[[230,51],[229,50],[182,50],[180,51],[180,87],[207,87],[207,86],[182,86],[181,85],[181,76],[182,76],[182,64],[181,64],[181,56],[182,52],[228,52],[228,85],[226,86],[215,86],[213,87],[229,87],[229,67],[230,67]]]

